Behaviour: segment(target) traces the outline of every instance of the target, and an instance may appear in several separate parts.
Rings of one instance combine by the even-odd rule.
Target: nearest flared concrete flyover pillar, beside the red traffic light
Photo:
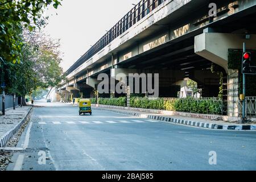
[[[228,68],[229,49],[242,49],[243,42],[246,49],[256,49],[256,35],[245,39],[244,34],[208,33],[195,36],[195,53],[220,65],[228,74],[228,115],[238,117],[239,96],[238,96],[238,70]],[[237,58],[238,61],[241,57]],[[242,64],[242,63],[241,63]]]

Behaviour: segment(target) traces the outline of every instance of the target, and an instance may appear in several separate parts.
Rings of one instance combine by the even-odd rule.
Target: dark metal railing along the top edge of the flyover
[[[149,14],[156,7],[161,5],[164,1],[167,0],[141,0],[133,9],[131,9],[121,20],[118,21],[110,30],[102,36],[96,44],[94,44],[87,52],[85,52],[76,63],[68,69],[66,74],[68,75],[72,71],[74,71],[79,65],[84,63],[86,60],[90,59],[93,55],[95,55],[102,48],[106,47],[110,42],[112,42],[119,35],[123,34],[126,30],[132,27],[139,20],[144,18],[147,14]]]

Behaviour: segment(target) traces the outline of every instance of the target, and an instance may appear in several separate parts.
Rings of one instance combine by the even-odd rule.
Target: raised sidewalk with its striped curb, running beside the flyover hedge
[[[133,111],[133,110],[123,110],[117,109],[117,106],[93,106],[94,109],[102,109],[102,110],[109,110],[119,114],[125,115],[132,115],[135,117],[140,118],[148,118],[148,119],[155,119],[158,121],[163,122],[172,122],[180,125],[187,125],[193,127],[203,127],[207,129],[218,129],[218,130],[255,130],[256,125],[251,124],[239,124],[233,122],[226,122],[226,121],[217,121],[214,119],[207,119],[207,118],[192,118],[192,117],[185,117],[181,115],[167,115],[167,114],[155,114],[155,113],[147,113],[143,111]]]

